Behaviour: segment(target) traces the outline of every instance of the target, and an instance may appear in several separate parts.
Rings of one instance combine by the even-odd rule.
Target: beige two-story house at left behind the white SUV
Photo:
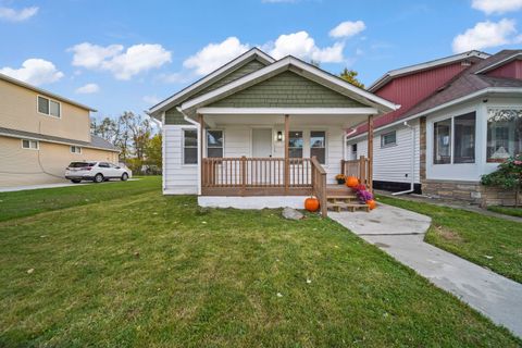
[[[90,134],[89,107],[0,74],[0,187],[64,181],[72,161],[117,163]]]

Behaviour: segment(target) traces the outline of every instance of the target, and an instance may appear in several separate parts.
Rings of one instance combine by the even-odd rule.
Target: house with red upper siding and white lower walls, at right
[[[375,188],[483,204],[512,200],[480,178],[521,152],[522,50],[470,51],[395,70],[369,90],[402,105],[375,120]],[[364,125],[349,132],[351,158],[364,154],[366,138]]]

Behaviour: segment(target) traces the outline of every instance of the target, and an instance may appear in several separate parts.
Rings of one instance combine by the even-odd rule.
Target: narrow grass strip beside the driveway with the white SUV
[[[146,176],[129,182],[0,192],[0,222],[158,190],[159,185],[161,176]]]

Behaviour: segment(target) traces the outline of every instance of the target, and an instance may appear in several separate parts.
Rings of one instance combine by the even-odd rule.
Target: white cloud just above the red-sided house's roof
[[[459,34],[453,38],[453,52],[464,52],[469,50],[481,50],[485,48],[513,44],[517,38],[515,22],[504,18],[498,23],[478,22],[473,28]]]

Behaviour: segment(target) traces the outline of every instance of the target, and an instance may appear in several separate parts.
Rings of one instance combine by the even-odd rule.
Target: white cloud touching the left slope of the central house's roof
[[[186,59],[183,66],[194,69],[198,75],[207,75],[244,53],[248,48],[248,44],[241,44],[237,37],[228,37],[222,42],[207,45]]]

